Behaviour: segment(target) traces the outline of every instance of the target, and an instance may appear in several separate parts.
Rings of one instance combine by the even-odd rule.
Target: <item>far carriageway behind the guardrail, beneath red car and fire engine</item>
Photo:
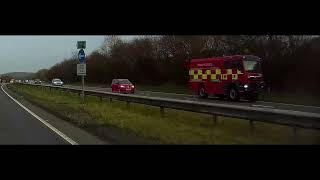
[[[64,87],[81,89],[80,86],[73,86],[73,85],[64,85]],[[101,91],[101,92],[111,92],[111,88],[105,88],[105,87],[86,86],[85,89],[86,90]],[[301,112],[320,113],[320,107],[317,107],[317,106],[305,106],[305,105],[295,105],[295,104],[275,103],[275,102],[265,102],[265,101],[248,102],[245,100],[242,100],[240,102],[230,102],[227,100],[219,100],[214,97],[209,97],[208,99],[199,99],[197,96],[189,95],[189,94],[176,94],[176,93],[164,93],[164,92],[153,92],[153,91],[136,90],[135,93],[137,95],[144,95],[144,96],[166,97],[166,98],[183,99],[183,100],[191,100],[191,101],[201,101],[201,102],[206,102],[206,103],[220,103],[220,104],[231,104],[232,103],[233,105],[240,105],[240,106],[250,106],[250,107],[268,108],[268,109],[283,109],[283,110],[293,110],[293,111],[301,111]]]

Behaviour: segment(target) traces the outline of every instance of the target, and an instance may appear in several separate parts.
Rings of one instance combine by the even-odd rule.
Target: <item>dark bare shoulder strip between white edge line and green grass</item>
[[[19,101],[24,102],[26,106],[32,106],[35,111],[37,111],[38,109],[42,110],[41,112],[39,112],[40,114],[44,113],[44,116],[46,116],[46,114],[50,114],[60,119],[60,121],[62,122],[59,123],[58,126],[60,124],[67,123],[70,126],[85,131],[92,136],[100,139],[104,142],[102,144],[161,144],[161,142],[159,142],[158,140],[142,137],[141,135],[134,133],[128,129],[97,123],[97,121],[92,119],[92,117],[86,112],[78,112],[63,105],[51,107],[48,106],[45,102],[38,102],[36,100],[33,100],[32,98],[21,96],[12,88],[6,87],[6,89],[10,89],[8,91],[15,98],[19,99]],[[62,128],[64,128],[63,125]]]

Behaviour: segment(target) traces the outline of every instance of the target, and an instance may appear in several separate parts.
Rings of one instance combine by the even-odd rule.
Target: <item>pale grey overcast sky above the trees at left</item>
[[[87,41],[85,52],[89,54],[101,46],[104,36],[0,36],[0,74],[50,68],[71,57],[77,41]]]

